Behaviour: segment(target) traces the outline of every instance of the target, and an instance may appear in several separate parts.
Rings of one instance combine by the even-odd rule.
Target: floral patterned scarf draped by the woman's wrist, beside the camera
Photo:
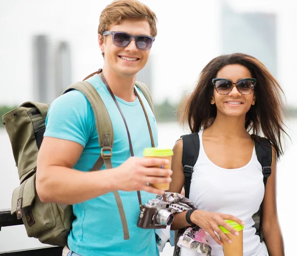
[[[197,209],[189,199],[181,194],[166,192],[165,196],[167,202],[170,203],[168,210],[172,213]],[[157,195],[156,199],[163,200],[163,197],[162,195]],[[181,255],[182,246],[192,249],[200,254],[211,256],[211,247],[207,240],[207,234],[199,226],[192,226],[175,232],[175,248],[173,256]]]

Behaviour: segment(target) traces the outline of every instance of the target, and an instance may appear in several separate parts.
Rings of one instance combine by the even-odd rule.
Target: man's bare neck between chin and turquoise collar
[[[103,66],[102,72],[106,79],[106,82],[108,83],[108,86],[115,96],[121,98],[126,102],[134,102],[136,100],[136,95],[134,93],[136,75],[122,76],[107,65]]]

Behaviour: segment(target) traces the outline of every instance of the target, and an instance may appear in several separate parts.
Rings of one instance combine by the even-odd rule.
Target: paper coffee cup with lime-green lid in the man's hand
[[[170,149],[158,149],[158,148],[146,148],[144,150],[143,155],[145,157],[153,157],[153,158],[165,158],[169,160],[169,163],[166,165],[161,166],[155,166],[163,169],[171,169],[171,161],[172,161],[172,155],[173,151]],[[159,184],[149,184],[150,186],[162,189],[162,190],[168,190],[170,183],[159,183]]]

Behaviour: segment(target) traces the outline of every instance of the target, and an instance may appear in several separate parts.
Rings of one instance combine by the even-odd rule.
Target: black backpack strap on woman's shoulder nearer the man
[[[181,136],[183,138],[182,164],[185,175],[185,197],[189,198],[193,167],[198,159],[200,141],[198,133]]]

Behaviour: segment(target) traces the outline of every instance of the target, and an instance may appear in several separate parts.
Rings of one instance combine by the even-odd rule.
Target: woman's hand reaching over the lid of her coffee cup
[[[233,215],[204,210],[193,211],[190,219],[193,223],[204,229],[213,238],[213,240],[221,246],[223,243],[219,240],[214,231],[220,236],[221,240],[225,240],[228,243],[231,243],[231,240],[223,233],[223,231],[219,228],[219,225],[226,228],[233,235],[238,236],[238,232],[227,224],[225,220],[233,220],[241,225],[246,224],[244,221]]]

